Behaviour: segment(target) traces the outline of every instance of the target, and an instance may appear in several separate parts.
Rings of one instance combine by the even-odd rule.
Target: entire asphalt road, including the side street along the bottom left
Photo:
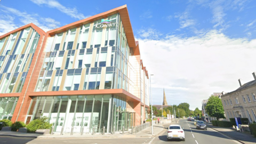
[[[141,144],[163,144],[163,143],[189,143],[189,144],[237,144],[239,142],[227,138],[225,135],[210,129],[196,130],[194,122],[187,122],[186,119],[179,121],[181,127],[184,127],[186,141],[167,141],[166,131],[156,137],[150,138],[102,138],[102,139],[33,139],[33,138],[14,138],[0,137],[0,144],[17,143],[17,144],[56,144],[56,143],[89,143],[89,144],[106,144],[106,143],[141,143]],[[167,127],[168,125],[164,125]]]

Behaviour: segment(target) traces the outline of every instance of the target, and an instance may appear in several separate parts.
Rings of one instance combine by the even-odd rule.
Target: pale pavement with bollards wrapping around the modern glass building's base
[[[166,119],[167,120],[167,119]],[[39,139],[63,139],[63,138],[68,138],[68,139],[108,139],[108,138],[146,138],[146,137],[155,137],[159,134],[162,134],[164,132],[164,126],[166,124],[171,124],[171,123],[176,123],[178,120],[174,121],[163,121],[162,124],[155,124],[153,122],[153,135],[151,132],[151,126],[147,127],[146,129],[132,134],[131,131],[126,131],[124,134],[122,134],[122,131],[115,132],[115,134],[110,134],[110,133],[105,133],[105,135],[100,134],[100,133],[95,133],[92,135],[91,133],[89,134],[83,134],[81,133],[74,133],[73,135],[70,135],[70,133],[63,133],[60,135],[59,132],[54,132],[52,135],[51,134],[38,134],[38,133],[21,133],[21,132],[12,132],[12,131],[0,131],[0,136],[9,136],[9,137],[23,137],[23,138],[39,138]]]

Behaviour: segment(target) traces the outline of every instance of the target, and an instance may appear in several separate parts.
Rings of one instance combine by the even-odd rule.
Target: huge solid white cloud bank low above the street
[[[146,32],[145,32],[146,33]],[[151,77],[153,103],[165,88],[169,105],[188,102],[201,109],[213,92],[230,92],[253,80],[256,39],[229,38],[217,30],[201,36],[139,39],[141,59]],[[196,102],[195,102],[196,100]]]

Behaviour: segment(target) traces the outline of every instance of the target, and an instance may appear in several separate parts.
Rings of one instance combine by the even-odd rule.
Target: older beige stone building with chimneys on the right
[[[248,118],[250,123],[256,122],[256,75],[252,73],[254,80],[242,84],[235,91],[221,95],[221,101],[225,110],[226,118]]]

